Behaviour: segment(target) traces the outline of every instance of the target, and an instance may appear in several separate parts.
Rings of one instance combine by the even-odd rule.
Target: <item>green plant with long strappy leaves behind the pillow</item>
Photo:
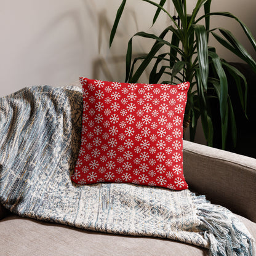
[[[236,54],[241,60],[248,63],[256,73],[256,62],[248,54],[242,44],[225,28],[210,28],[210,18],[227,17],[238,22],[244,34],[256,50],[256,41],[249,28],[230,12],[210,12],[211,0],[198,0],[192,14],[186,12],[186,0],[172,0],[177,10],[180,25],[166,9],[166,0],[158,3],[150,0],[142,0],[156,7],[153,17],[153,25],[159,14],[166,14],[173,25],[165,28],[159,35],[138,32],[130,38],[126,54],[126,82],[137,82],[150,63],[151,68],[149,83],[174,84],[189,81],[191,86],[188,92],[185,118],[183,127],[190,126],[190,140],[194,140],[198,119],[201,117],[202,129],[207,145],[213,145],[214,128],[212,125],[210,98],[218,99],[220,106],[220,119],[222,126],[222,148],[225,148],[226,137],[231,132],[233,143],[236,143],[236,121],[230,95],[228,94],[228,82],[226,73],[230,73],[236,81],[241,107],[246,114],[247,82],[243,74],[234,66],[220,58],[214,47],[209,46],[209,36],[214,36],[226,49]],[[110,46],[113,42],[119,20],[126,5],[126,0],[121,2],[114,25],[110,34]],[[199,10],[204,9],[204,15],[199,16]],[[202,25],[202,21],[204,25]],[[171,39],[167,40],[167,34]],[[142,37],[153,40],[153,46],[145,55],[132,60],[132,40],[134,37]],[[163,50],[164,49],[164,50]],[[159,53],[161,50],[163,53]],[[139,64],[137,62],[140,62]],[[137,63],[135,65],[135,63]],[[210,72],[209,72],[210,70]],[[162,81],[162,75],[169,77]],[[228,126],[230,124],[230,126]],[[231,127],[228,130],[228,127]]]

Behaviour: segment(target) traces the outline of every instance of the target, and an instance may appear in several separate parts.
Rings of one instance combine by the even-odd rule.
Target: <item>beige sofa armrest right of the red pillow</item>
[[[189,188],[256,222],[256,159],[183,141]]]

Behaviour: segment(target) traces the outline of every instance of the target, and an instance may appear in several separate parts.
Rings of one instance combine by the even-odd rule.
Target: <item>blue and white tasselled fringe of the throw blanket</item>
[[[194,196],[204,238],[209,242],[210,255],[254,256],[254,239],[245,226],[222,206],[212,205],[205,196]]]

